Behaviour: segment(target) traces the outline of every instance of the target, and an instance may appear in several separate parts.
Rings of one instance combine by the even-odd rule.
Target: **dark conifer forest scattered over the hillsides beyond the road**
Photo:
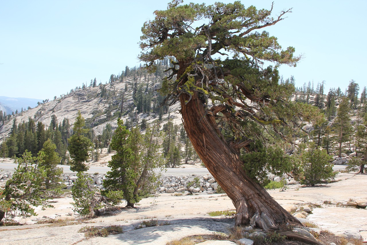
[[[106,82],[106,84],[97,84],[97,79],[91,79],[89,85],[83,83],[80,87],[76,86],[75,89],[70,90],[70,94],[79,90],[88,90],[88,88],[99,88],[96,96],[109,100],[108,110],[103,111],[102,116],[105,117],[104,120],[112,121],[118,117],[128,115],[130,120],[127,120],[124,125],[127,128],[138,125],[143,132],[147,127],[147,123],[145,119],[139,121],[138,114],[152,115],[157,121],[162,122],[162,116],[168,113],[168,106],[162,104],[164,97],[157,92],[157,89],[161,87],[163,77],[169,75],[165,71],[170,67],[172,67],[172,63],[169,58],[165,58],[160,63],[157,63],[153,74],[149,74],[144,67],[126,67],[119,75],[111,74],[109,82]],[[150,77],[149,75],[154,76]],[[113,83],[121,82],[125,82],[124,91],[120,93],[120,97],[116,98],[116,92],[110,90],[109,87]],[[342,91],[340,88],[331,88],[326,93],[324,91],[324,82],[318,82],[317,84],[308,82],[308,84],[304,83],[303,86],[294,87],[295,78],[293,76],[286,79],[281,76],[279,84],[291,85],[294,89],[291,96],[296,102],[312,104],[319,108],[326,118],[323,124],[315,125],[315,130],[311,131],[310,134],[294,135],[295,139],[301,137],[305,143],[308,140],[316,141],[317,145],[322,146],[328,153],[333,153],[335,149],[338,149],[340,143],[348,147],[349,153],[357,149],[358,139],[356,130],[353,129],[361,125],[363,116],[367,111],[366,86],[360,88],[359,84],[351,80],[345,91]],[[129,93],[132,95],[133,103],[124,101],[124,96]],[[62,99],[62,97],[68,95],[69,93],[61,95],[59,98]],[[338,126],[334,123],[334,118],[338,116],[339,103],[341,103],[343,98],[348,100],[346,113],[350,117],[357,115],[358,120],[353,121],[350,127],[344,128],[343,136],[340,138]],[[56,99],[56,96],[54,99]],[[44,100],[39,104],[47,102],[48,100]],[[19,113],[23,113],[23,110]],[[339,113],[345,112],[339,111]],[[1,157],[21,157],[25,150],[31,152],[33,156],[37,156],[42,149],[43,143],[50,139],[57,147],[56,152],[61,157],[60,164],[69,164],[68,139],[73,132],[68,118],[63,118],[59,121],[55,115],[52,115],[50,125],[44,125],[41,121],[37,122],[30,117],[28,121],[17,122],[13,118],[16,115],[6,115],[0,111],[0,122],[2,124],[12,123],[11,131],[8,132],[8,138],[0,145]],[[86,129],[88,130],[85,136],[92,142],[92,146],[89,149],[90,160],[92,161],[98,160],[101,148],[109,148],[114,131],[110,124],[106,124],[102,134],[96,135],[92,127],[98,123],[103,123],[103,121],[96,122],[92,118],[87,118],[86,120]],[[224,127],[223,130],[226,130],[226,128]],[[174,167],[197,158],[182,125],[173,125],[172,120],[166,120],[163,132],[165,136],[161,142],[164,156],[168,156],[169,159],[167,167]],[[343,151],[346,153],[345,149]]]

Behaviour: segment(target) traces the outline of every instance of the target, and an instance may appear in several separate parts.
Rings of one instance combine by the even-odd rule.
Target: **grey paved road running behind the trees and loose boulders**
[[[13,170],[16,168],[18,164],[15,163],[0,163],[0,169],[11,169]],[[347,165],[334,165],[334,170],[345,170],[345,167]],[[75,173],[70,170],[70,166],[68,165],[58,165],[58,167],[61,167],[64,171],[64,173]],[[111,169],[109,167],[99,167],[99,166],[91,166],[88,173],[100,173],[105,174],[107,171],[110,171]],[[159,170],[156,170],[156,172],[159,172]],[[205,175],[209,174],[209,171],[206,168],[167,168],[167,171],[162,171],[162,174],[165,175]]]

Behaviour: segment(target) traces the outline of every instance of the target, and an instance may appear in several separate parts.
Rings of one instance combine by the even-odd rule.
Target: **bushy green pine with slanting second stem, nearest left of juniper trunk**
[[[163,166],[163,158],[159,153],[159,127],[147,128],[141,135],[138,128],[131,131],[123,126],[123,121],[117,120],[117,129],[112,137],[111,148],[116,154],[109,161],[111,171],[103,182],[106,196],[115,199],[124,198],[128,207],[134,207],[142,196],[149,194],[156,181],[154,168]]]

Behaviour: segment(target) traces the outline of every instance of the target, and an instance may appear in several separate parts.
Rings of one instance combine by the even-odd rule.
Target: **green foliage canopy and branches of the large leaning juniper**
[[[214,129],[222,141],[242,153],[257,152],[259,149],[250,145],[256,141],[264,146],[274,144],[274,139],[291,141],[300,130],[301,119],[321,124],[323,115],[316,108],[291,101],[293,85],[279,84],[276,68],[281,64],[295,66],[301,56],[294,55],[294,47],[282,49],[276,37],[260,32],[284,19],[291,9],[272,17],[273,6],[258,10],[240,1],[182,3],[171,1],[167,10],[155,11],[155,18],[142,27],[139,58],[148,68],[154,70],[157,60],[175,58],[160,89],[166,96],[164,103],[183,99],[187,104],[192,97],[199,97],[206,113],[216,118]],[[227,58],[215,59],[214,55]],[[252,177],[262,178],[261,168],[276,171],[274,166],[279,166],[275,163],[280,159],[255,166],[251,158],[265,159],[271,154],[262,153],[261,157],[255,156],[261,151],[244,157],[248,171],[256,168]]]

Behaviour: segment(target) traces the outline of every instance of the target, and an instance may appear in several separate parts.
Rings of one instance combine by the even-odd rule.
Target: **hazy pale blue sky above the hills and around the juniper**
[[[282,66],[280,74],[294,75],[296,86],[324,80],[327,89],[344,90],[350,79],[367,85],[366,0],[242,3],[269,9],[272,1],[274,15],[288,8],[293,13],[266,31],[283,48],[294,46],[304,54],[297,67]],[[53,99],[83,82],[105,83],[126,65],[139,65],[141,26],[167,2],[0,1],[0,96]]]

